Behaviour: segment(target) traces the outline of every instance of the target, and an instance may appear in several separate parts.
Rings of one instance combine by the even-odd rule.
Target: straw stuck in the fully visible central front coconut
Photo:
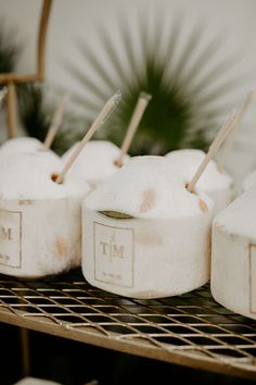
[[[205,158],[201,162],[197,171],[195,172],[193,178],[188,184],[188,186],[187,186],[188,191],[194,192],[194,188],[195,188],[196,183],[199,182],[199,178],[201,177],[201,175],[205,171],[207,164],[209,163],[209,161],[212,160],[214,154],[218,151],[218,149],[221,146],[223,139],[227,137],[229,132],[232,129],[233,125],[238,122],[239,117],[240,117],[240,112],[234,111],[231,114],[231,116],[221,126],[221,128],[219,129],[216,138],[212,142],[212,145],[210,145],[210,147],[208,149],[208,152],[205,154]]]

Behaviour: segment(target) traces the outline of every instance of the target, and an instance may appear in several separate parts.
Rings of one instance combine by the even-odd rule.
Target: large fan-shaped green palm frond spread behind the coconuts
[[[217,61],[216,53],[223,36],[216,36],[206,44],[204,23],[196,23],[181,44],[184,40],[181,39],[182,15],[175,16],[174,23],[166,28],[163,12],[155,12],[153,25],[149,25],[146,12],[139,13],[139,44],[135,41],[128,18],[124,14],[117,16],[121,53],[116,48],[113,32],[106,25],[99,25],[101,49],[98,53],[90,41],[76,41],[85,60],[82,67],[90,67],[94,76],[67,59],[63,64],[86,91],[74,95],[75,102],[87,107],[90,111],[87,117],[92,119],[110,95],[120,89],[123,100],[104,134],[101,133],[120,146],[138,96],[143,90],[153,98],[132,144],[132,154],[165,153],[183,147],[205,149],[222,114],[233,107],[232,92],[241,86],[229,71],[238,62],[238,55],[235,60],[230,55]]]

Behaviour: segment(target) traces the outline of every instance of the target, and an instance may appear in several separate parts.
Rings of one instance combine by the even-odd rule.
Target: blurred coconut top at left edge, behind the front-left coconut
[[[9,139],[0,147],[0,161],[4,160],[5,157],[13,156],[18,152],[42,152],[48,157],[59,158],[52,150],[46,149],[43,144],[37,138],[24,136]]]

